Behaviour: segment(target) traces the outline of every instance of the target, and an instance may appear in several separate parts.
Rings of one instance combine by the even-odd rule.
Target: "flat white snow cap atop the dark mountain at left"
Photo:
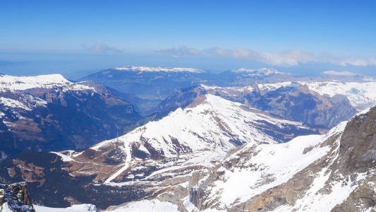
[[[39,76],[8,76],[0,75],[0,91],[27,90],[30,88],[56,88],[64,87],[68,90],[94,90],[94,88],[72,83],[61,74],[48,74]]]

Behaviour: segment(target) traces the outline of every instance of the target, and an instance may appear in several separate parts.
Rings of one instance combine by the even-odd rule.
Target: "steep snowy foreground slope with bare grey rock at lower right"
[[[166,192],[170,195],[119,206],[119,211],[162,205],[166,211],[191,212],[373,211],[375,120],[372,107],[325,135],[278,144],[246,143],[208,174],[193,173],[196,180],[190,182],[188,196],[174,189]]]

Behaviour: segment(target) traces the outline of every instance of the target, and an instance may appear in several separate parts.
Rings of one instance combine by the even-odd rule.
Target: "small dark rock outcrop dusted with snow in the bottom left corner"
[[[25,182],[0,184],[0,211],[35,212]]]

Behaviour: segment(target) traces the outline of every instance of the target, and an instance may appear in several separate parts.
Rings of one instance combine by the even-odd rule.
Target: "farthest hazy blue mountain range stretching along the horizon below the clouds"
[[[149,114],[153,107],[178,92],[182,88],[200,84],[219,87],[243,87],[260,83],[280,83],[286,81],[372,81],[372,78],[358,74],[325,71],[316,77],[294,76],[276,69],[234,69],[222,73],[211,73],[192,68],[162,68],[128,66],[107,69],[92,73],[80,79],[93,81],[118,90],[123,96],[138,98],[135,106],[141,114]],[[131,100],[131,99],[130,99]]]

